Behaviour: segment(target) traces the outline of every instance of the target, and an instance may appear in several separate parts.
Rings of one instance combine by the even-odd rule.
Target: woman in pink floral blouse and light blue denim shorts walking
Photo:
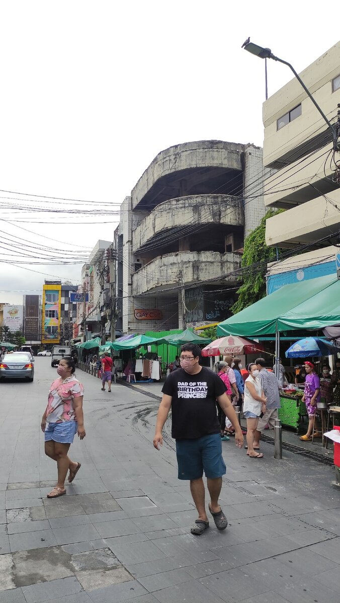
[[[59,379],[55,379],[48,392],[47,408],[42,416],[41,429],[45,433],[45,455],[57,461],[58,481],[47,494],[57,498],[66,494],[65,479],[71,483],[80,469],[80,463],[71,461],[68,449],[77,433],[85,438],[83,417],[83,385],[73,375],[75,365],[72,358],[64,356],[57,367]]]

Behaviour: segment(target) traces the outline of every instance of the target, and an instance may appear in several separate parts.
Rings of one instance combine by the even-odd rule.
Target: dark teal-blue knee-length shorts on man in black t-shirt
[[[226,473],[220,434],[195,440],[176,440],[178,479],[220,478]]]

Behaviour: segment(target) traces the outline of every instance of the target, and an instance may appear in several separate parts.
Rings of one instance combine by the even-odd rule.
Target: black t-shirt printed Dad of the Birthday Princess
[[[188,374],[184,368],[170,373],[162,393],[172,396],[172,437],[194,440],[219,434],[216,398],[225,391],[222,379],[210,368],[202,367],[196,375]]]

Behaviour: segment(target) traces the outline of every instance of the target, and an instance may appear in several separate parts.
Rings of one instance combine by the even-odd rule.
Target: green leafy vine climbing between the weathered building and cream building
[[[243,275],[240,277],[240,280],[243,282],[237,291],[239,298],[231,308],[233,314],[237,314],[237,312],[248,308],[248,306],[251,306],[255,301],[260,300],[266,295],[265,275],[267,271],[267,262],[272,262],[276,259],[275,247],[268,247],[265,242],[266,219],[283,211],[283,209],[275,211],[270,209],[261,219],[258,227],[245,239],[241,266],[242,268],[249,266],[249,270],[243,271]],[[263,264],[253,268],[252,265],[257,262],[263,262]]]

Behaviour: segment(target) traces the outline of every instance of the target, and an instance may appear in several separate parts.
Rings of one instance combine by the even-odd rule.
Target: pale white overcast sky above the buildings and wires
[[[326,0],[322,10],[331,14],[335,4]],[[171,145],[204,139],[262,145],[265,64],[241,45],[251,36],[302,71],[338,42],[336,27],[321,27],[317,13],[296,1],[2,2],[0,188],[14,194],[0,195],[19,198],[22,209],[13,213],[1,199],[0,259],[24,262],[27,242],[47,245],[57,261],[68,250],[80,264],[25,265],[39,274],[1,263],[0,302],[21,303],[23,293],[41,292],[45,275],[79,282],[85,248],[112,240],[117,226],[115,215],[31,212],[38,204],[30,195],[117,209]],[[275,62],[268,76],[269,95],[291,79]],[[45,207],[82,207],[64,203],[47,200]],[[46,223],[32,223],[38,220]],[[62,220],[71,224],[56,224]],[[19,249],[10,252],[13,236]]]

